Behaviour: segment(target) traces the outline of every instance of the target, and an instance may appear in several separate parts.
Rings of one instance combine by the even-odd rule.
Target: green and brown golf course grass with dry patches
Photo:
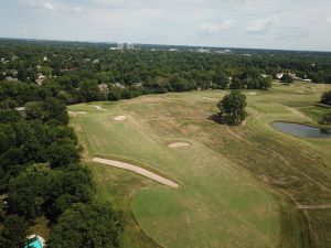
[[[97,198],[122,208],[128,219],[125,247],[328,247],[331,208],[320,206],[331,204],[331,139],[290,137],[270,123],[316,125],[330,110],[317,106],[330,88],[246,90],[249,117],[241,127],[210,119],[215,99],[225,95],[220,90],[70,110],[98,182]],[[131,162],[180,187],[94,163],[94,157]]]

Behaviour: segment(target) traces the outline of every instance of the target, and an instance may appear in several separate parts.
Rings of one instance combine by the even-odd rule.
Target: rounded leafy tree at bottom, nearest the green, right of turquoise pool
[[[120,212],[109,205],[75,204],[51,231],[49,248],[116,248],[124,229]]]

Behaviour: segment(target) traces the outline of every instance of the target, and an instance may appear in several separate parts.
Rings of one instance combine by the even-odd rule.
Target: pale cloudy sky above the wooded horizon
[[[331,0],[0,0],[0,36],[331,51]]]

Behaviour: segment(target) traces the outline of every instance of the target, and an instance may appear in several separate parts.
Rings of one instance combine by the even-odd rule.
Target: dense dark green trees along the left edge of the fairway
[[[28,245],[41,216],[50,222],[47,247],[118,247],[122,214],[94,200],[92,172],[79,164],[82,148],[61,95],[43,97],[18,98],[26,100],[21,112],[0,109],[0,247]]]

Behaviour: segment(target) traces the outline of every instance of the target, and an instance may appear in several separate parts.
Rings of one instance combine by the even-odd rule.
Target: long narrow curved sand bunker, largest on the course
[[[125,162],[120,162],[120,161],[116,161],[116,160],[99,159],[99,158],[94,158],[93,161],[97,162],[97,163],[110,165],[110,166],[114,166],[114,168],[119,168],[119,169],[124,169],[124,170],[127,170],[127,171],[135,172],[139,175],[143,175],[148,179],[151,179],[151,180],[153,180],[158,183],[164,184],[164,185],[170,186],[170,187],[178,187],[179,186],[175,182],[172,182],[168,179],[164,179],[160,175],[157,175],[156,173],[152,173],[152,172],[150,172],[146,169],[136,166],[134,164],[129,164],[129,163],[125,163]]]

